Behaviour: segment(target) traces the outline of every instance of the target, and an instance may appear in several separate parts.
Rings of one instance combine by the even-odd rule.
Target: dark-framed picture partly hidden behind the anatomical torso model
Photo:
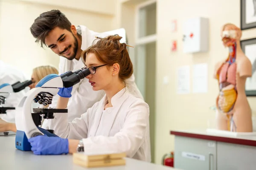
[[[245,93],[246,96],[256,96],[256,38],[242,40],[241,48],[252,63],[252,77],[246,79]]]

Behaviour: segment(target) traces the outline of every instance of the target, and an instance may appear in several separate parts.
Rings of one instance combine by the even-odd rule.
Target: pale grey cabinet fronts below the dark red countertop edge
[[[182,170],[256,170],[256,147],[176,135],[174,167]]]

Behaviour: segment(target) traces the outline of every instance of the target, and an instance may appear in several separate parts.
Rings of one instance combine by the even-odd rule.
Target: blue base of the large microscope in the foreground
[[[38,129],[42,133],[44,133],[45,135],[47,135],[49,137],[51,137],[51,136],[58,137],[57,135],[50,133],[48,130],[45,130],[41,127],[38,127]],[[26,137],[26,134],[24,131],[17,130],[16,136],[15,136],[15,147],[18,150],[31,151],[31,145],[30,145],[28,138]]]

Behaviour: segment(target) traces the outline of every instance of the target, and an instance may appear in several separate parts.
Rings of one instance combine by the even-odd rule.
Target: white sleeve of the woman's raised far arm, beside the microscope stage
[[[97,104],[96,104],[97,105]],[[54,119],[48,119],[49,129],[55,131],[55,134],[61,138],[83,139],[87,138],[89,116],[94,108],[93,105],[88,111],[81,115],[81,117],[74,119],[72,122],[67,121],[68,113],[54,113]]]

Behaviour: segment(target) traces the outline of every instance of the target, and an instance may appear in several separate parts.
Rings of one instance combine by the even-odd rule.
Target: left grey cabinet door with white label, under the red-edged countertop
[[[216,141],[175,136],[174,166],[182,170],[216,170]]]

